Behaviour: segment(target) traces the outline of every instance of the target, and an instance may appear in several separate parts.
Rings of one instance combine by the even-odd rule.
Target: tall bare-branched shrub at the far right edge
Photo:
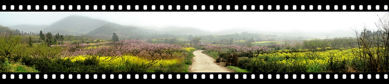
[[[355,48],[359,48],[353,51],[354,56],[360,64],[357,67],[365,72],[389,72],[389,22],[382,19],[375,23],[379,29],[375,33],[371,33],[366,27],[360,33],[354,30],[357,43]]]

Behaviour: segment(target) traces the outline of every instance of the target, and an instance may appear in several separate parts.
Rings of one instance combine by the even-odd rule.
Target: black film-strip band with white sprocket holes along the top
[[[389,4],[1,4],[0,12],[387,12]]]

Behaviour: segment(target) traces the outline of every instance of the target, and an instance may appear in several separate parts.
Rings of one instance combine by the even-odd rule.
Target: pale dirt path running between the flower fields
[[[201,53],[202,51],[197,50],[193,52],[193,63],[189,66],[189,72],[232,72],[226,67],[217,65],[215,59]]]

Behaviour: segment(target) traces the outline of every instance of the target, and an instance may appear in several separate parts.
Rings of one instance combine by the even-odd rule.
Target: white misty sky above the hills
[[[0,25],[50,25],[69,15],[83,15],[121,25],[193,27],[207,31],[250,28],[260,31],[331,32],[361,29],[388,12],[0,12]],[[378,16],[377,16],[378,15]]]

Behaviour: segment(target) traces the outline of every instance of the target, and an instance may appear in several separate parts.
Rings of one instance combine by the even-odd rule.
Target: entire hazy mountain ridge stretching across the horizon
[[[191,27],[179,27],[179,26],[168,26],[164,28],[159,29],[150,29],[150,28],[144,28],[144,27],[135,27],[135,26],[123,26],[121,24],[112,23],[109,21],[97,19],[97,18],[91,18],[88,16],[82,16],[82,15],[69,15],[65,18],[62,18],[51,25],[18,25],[20,26],[18,30],[29,32],[32,31],[31,29],[40,29],[41,27],[42,32],[47,33],[60,33],[62,35],[91,35],[91,36],[104,36],[109,37],[112,33],[117,32],[118,35],[124,35],[124,36],[139,36],[135,34],[143,34],[143,33],[149,33],[149,34],[171,34],[171,35],[226,35],[226,34],[234,34],[234,33],[241,33],[241,32],[251,32],[251,33],[259,33],[259,34],[266,34],[266,35],[278,35],[278,36],[313,36],[313,37],[325,37],[325,36],[351,36],[348,34],[338,32],[332,32],[332,33],[313,33],[313,32],[300,32],[300,31],[292,31],[292,32],[273,32],[273,31],[266,31],[266,29],[261,30],[254,30],[254,29],[244,29],[244,28],[229,28],[226,30],[220,30],[220,31],[206,31],[199,28],[191,28]],[[17,29],[18,26],[12,26],[10,28]],[[23,26],[30,26],[30,27],[23,27]],[[112,26],[112,27],[109,27]],[[35,28],[34,28],[35,27]],[[44,28],[43,28],[44,27]],[[30,30],[25,30],[21,28],[26,28]],[[32,31],[34,33],[39,33],[40,30]],[[103,33],[101,33],[103,32]],[[104,33],[107,32],[107,33]],[[126,34],[131,33],[131,34]]]

